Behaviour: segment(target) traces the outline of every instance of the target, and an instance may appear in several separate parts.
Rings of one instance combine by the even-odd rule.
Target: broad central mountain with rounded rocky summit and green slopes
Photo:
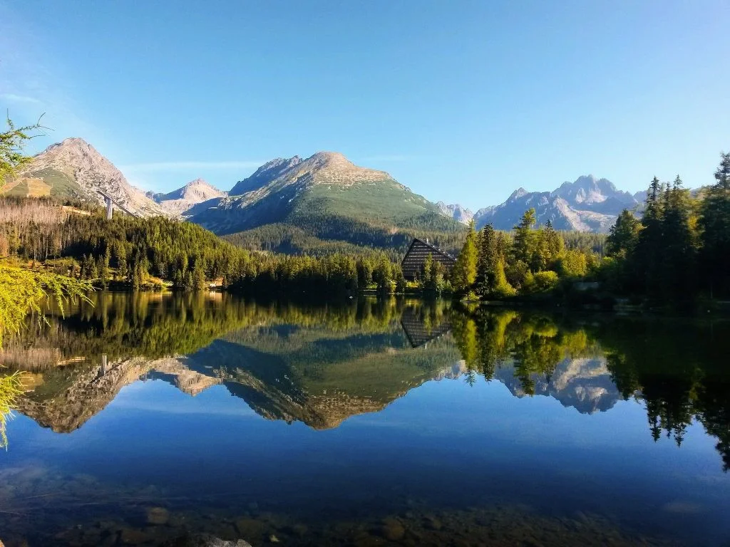
[[[269,227],[278,239],[304,230],[372,247],[402,247],[414,230],[463,230],[385,171],[356,166],[338,152],[269,161],[228,194],[191,220],[218,234]]]

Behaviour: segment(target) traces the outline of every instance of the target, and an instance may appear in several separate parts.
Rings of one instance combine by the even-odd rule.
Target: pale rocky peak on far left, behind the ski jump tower
[[[142,190],[127,182],[110,160],[83,139],[65,139],[34,156],[18,176],[5,185],[4,195],[76,198],[103,204],[104,191],[126,209],[142,216],[168,215]]]

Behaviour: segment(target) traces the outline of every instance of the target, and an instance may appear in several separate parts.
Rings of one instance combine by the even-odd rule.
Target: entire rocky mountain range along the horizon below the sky
[[[284,252],[303,250],[305,240],[310,248],[400,248],[413,236],[431,236],[448,247],[472,220],[477,228],[491,223],[510,230],[531,207],[538,225],[550,220],[560,230],[607,232],[623,209],[640,211],[643,201],[643,193],[586,175],[552,192],[518,188],[504,203],[472,213],[458,203],[432,203],[385,171],[356,166],[339,152],[275,158],[228,192],[195,179],[170,193],[144,193],[77,138],[36,155],[1,191],[102,203],[99,190],[140,216],[183,217],[234,242],[255,247],[265,241],[265,248]]]

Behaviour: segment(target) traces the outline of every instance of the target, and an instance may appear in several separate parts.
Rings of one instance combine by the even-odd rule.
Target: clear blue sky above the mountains
[[[730,1],[0,0],[0,107],[145,189],[337,150],[472,209],[582,174],[712,182]]]

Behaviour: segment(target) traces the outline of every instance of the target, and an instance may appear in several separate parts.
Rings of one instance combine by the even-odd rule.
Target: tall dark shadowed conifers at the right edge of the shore
[[[730,296],[730,154],[697,197],[682,179],[649,185],[641,220],[624,211],[607,238],[603,279],[653,303]]]

